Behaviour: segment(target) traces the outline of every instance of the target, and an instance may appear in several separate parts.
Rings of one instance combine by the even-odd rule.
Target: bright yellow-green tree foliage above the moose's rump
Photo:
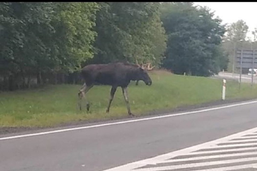
[[[93,58],[98,4],[95,2],[55,3],[53,35],[58,67],[66,72],[80,69],[81,62]]]

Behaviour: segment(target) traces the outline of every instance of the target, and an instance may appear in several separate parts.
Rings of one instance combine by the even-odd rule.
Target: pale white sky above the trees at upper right
[[[248,28],[247,36],[252,38],[252,31],[257,27],[257,2],[194,2],[194,5],[207,6],[225,23],[244,20]]]

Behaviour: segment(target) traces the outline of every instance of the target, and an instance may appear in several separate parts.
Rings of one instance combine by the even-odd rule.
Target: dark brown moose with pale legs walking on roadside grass
[[[82,68],[81,76],[84,79],[84,84],[78,92],[79,108],[81,110],[81,100],[85,94],[94,85],[111,85],[109,104],[106,113],[109,113],[110,105],[113,101],[114,94],[117,87],[122,88],[122,94],[126,102],[128,114],[135,116],[131,113],[128,102],[128,84],[131,80],[142,80],[146,85],[151,85],[152,80],[146,70],[128,62],[113,62],[109,64],[90,64]],[[85,97],[86,98],[86,97]],[[87,99],[86,99],[87,101]],[[87,111],[90,105],[87,101]]]

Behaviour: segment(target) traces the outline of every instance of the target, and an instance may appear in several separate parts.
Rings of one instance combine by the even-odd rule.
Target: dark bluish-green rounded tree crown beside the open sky
[[[189,2],[162,3],[163,26],[168,34],[163,67],[175,73],[209,76],[219,72],[218,50],[225,28],[206,7]]]

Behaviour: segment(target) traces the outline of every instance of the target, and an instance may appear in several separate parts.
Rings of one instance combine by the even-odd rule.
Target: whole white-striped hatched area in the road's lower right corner
[[[103,171],[257,171],[256,132],[257,127]]]

